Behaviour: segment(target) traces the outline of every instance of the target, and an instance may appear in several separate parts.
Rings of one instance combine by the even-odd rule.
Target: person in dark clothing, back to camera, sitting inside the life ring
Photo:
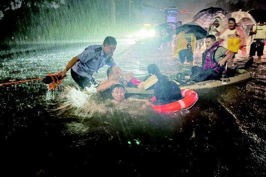
[[[154,104],[162,105],[168,104],[182,99],[179,86],[174,80],[171,80],[167,75],[160,73],[158,66],[153,63],[148,66],[149,75],[140,83],[139,88],[143,87],[143,84],[151,76],[155,75],[158,81],[151,86],[154,89],[156,101]]]

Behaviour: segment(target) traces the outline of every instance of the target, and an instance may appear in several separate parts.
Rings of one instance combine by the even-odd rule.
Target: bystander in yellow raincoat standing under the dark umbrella
[[[193,65],[193,52],[196,48],[196,37],[193,33],[181,31],[176,36],[174,56],[179,55],[179,60],[183,64],[187,59],[190,65]]]

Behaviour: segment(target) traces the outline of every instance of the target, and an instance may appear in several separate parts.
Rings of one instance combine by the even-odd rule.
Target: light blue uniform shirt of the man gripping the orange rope
[[[101,45],[92,45],[87,47],[81,54],[78,55],[79,61],[75,63],[72,70],[80,76],[91,79],[94,72],[104,65],[116,66],[112,55],[104,54]]]

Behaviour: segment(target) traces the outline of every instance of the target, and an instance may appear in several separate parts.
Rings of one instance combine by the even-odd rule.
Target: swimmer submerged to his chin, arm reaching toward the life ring
[[[125,98],[125,89],[124,86],[122,84],[114,84],[113,86],[111,86],[111,94],[113,97],[113,103],[121,103],[124,101],[134,101],[134,104],[136,105],[136,103],[144,103],[142,105],[142,108],[146,108],[148,106],[151,105],[149,100],[146,99],[139,99],[139,98]]]

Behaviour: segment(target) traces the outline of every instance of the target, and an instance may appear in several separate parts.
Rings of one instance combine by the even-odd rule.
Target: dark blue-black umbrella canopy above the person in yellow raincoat
[[[180,33],[181,31],[193,33],[197,40],[203,39],[207,35],[207,31],[195,23],[187,23],[176,28],[176,34]]]

